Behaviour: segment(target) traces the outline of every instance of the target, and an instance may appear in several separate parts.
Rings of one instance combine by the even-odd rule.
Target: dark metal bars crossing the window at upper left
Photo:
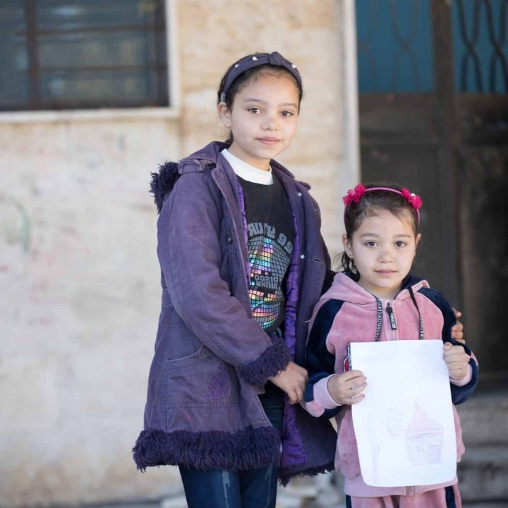
[[[25,0],[26,30],[16,32],[16,36],[26,38],[28,48],[28,80],[30,84],[30,99],[28,102],[14,102],[1,104],[0,109],[83,109],[94,107],[142,107],[142,106],[165,106],[168,104],[167,90],[167,49],[166,30],[159,20],[164,20],[164,0],[152,0],[149,8],[155,11],[151,16],[152,22],[144,25],[124,25],[109,27],[83,27],[83,28],[59,28],[54,30],[39,30],[37,24],[37,0]],[[76,66],[44,67],[40,66],[38,51],[39,37],[42,35],[64,35],[70,33],[114,33],[114,32],[144,32],[147,40],[152,38],[152,44],[145,44],[145,65],[123,66]],[[148,41],[147,41],[148,42]],[[152,55],[150,55],[150,48]],[[152,56],[152,58],[150,58]],[[153,61],[154,64],[148,62]],[[150,86],[150,73],[155,72],[155,90],[147,90],[147,97],[152,99],[116,99],[111,101],[100,99],[43,99],[41,91],[41,73],[91,73],[101,71],[145,71],[145,83]]]

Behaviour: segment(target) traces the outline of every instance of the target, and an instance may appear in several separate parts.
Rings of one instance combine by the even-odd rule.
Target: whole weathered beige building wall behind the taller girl
[[[223,138],[222,73],[278,50],[306,89],[280,160],[313,186],[338,253],[358,171],[344,146],[343,4],[177,1],[178,111],[0,114],[0,507],[180,489],[176,468],[141,474],[131,459],[160,298],[149,173]]]

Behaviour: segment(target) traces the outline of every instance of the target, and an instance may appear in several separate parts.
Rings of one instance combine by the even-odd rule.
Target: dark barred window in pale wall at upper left
[[[164,0],[1,0],[0,111],[169,105]]]

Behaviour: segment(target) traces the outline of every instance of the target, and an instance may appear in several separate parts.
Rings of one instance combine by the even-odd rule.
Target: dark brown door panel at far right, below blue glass
[[[459,97],[460,259],[483,384],[508,380],[508,97]]]

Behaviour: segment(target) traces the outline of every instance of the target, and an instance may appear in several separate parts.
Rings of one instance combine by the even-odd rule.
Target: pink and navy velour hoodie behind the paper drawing
[[[414,284],[412,284],[414,282]],[[416,300],[411,298],[410,288]],[[328,305],[327,305],[328,304]],[[325,306],[327,306],[325,308]],[[417,308],[418,306],[418,308]],[[388,311],[387,311],[388,307]],[[332,309],[332,310],[330,310]],[[320,310],[322,312],[320,313]],[[313,373],[317,379],[313,384],[311,397],[306,397],[302,404],[313,416],[322,416],[327,409],[337,409],[339,404],[332,399],[327,389],[330,373],[325,363],[334,363],[334,373],[341,374],[349,370],[347,346],[351,342],[418,339],[420,331],[418,310],[423,324],[423,339],[438,339],[443,336],[444,314],[453,314],[451,306],[441,294],[429,288],[428,282],[421,279],[409,279],[409,286],[402,289],[393,300],[379,300],[365,291],[346,274],[339,273],[334,277],[331,288],[320,298],[315,306],[309,324],[307,356],[312,356],[319,363],[323,355],[329,356],[323,361],[322,373],[319,365],[309,368],[310,385],[313,384]],[[389,313],[392,313],[392,320]],[[326,323],[325,323],[326,322]],[[325,324],[324,324],[325,323]],[[312,351],[310,351],[312,349]],[[465,348],[466,349],[466,348]],[[317,351],[317,352],[316,352]],[[334,359],[331,359],[331,358]],[[317,360],[316,360],[317,358]],[[471,353],[476,363],[476,358]],[[471,364],[464,380],[450,380],[453,385],[464,386],[471,382]],[[308,387],[309,388],[309,387]],[[344,474],[346,494],[355,497],[381,497],[388,495],[414,495],[428,490],[446,487],[457,483],[454,478],[440,485],[401,486],[397,488],[378,488],[363,482],[358,460],[356,436],[351,418],[351,406],[344,406],[336,417],[337,449],[335,467]],[[459,415],[454,408],[456,431],[456,454],[460,461],[464,454],[464,443]]]

